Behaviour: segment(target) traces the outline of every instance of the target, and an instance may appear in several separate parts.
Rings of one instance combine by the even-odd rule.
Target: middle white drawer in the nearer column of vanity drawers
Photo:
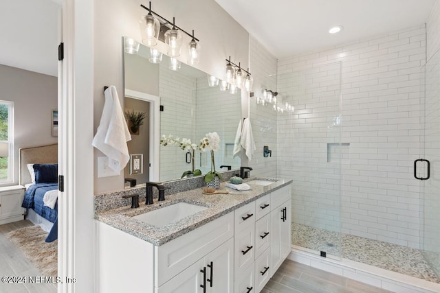
[[[234,237],[234,269],[239,275],[255,259],[255,222],[244,228]]]

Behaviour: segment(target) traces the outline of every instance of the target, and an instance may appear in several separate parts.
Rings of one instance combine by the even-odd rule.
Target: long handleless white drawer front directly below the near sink
[[[155,286],[160,287],[232,236],[234,214],[228,213],[162,246],[155,246]]]

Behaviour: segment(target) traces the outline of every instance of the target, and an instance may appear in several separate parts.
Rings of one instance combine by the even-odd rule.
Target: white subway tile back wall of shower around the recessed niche
[[[295,222],[420,248],[412,163],[425,52],[420,25],[278,60],[278,92],[295,111],[278,115],[277,175],[294,179]],[[339,142],[349,164],[327,163],[327,144]]]

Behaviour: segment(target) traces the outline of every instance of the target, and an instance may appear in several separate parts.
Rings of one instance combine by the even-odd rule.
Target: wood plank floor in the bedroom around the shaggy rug
[[[20,250],[12,244],[6,234],[19,228],[33,226],[32,222],[23,220],[0,225],[0,277],[34,277],[42,276],[41,272],[24,257]],[[52,293],[56,285],[51,283],[3,283],[0,282],[1,293]]]

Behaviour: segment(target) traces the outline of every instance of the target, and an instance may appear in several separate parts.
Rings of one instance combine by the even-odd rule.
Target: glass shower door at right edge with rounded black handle
[[[423,159],[430,162],[429,179],[421,187],[421,250],[430,266],[440,276],[440,51],[424,68],[424,147]],[[417,176],[428,177],[428,164],[421,165]]]

